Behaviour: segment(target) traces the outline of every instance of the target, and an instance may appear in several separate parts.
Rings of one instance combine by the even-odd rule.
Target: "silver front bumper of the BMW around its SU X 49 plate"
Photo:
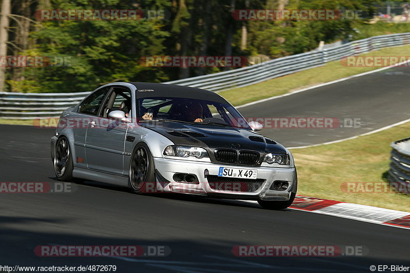
[[[163,192],[186,193],[244,200],[287,201],[290,198],[291,192],[296,193],[297,190],[297,175],[295,168],[232,166],[210,162],[196,162],[158,157],[153,158],[153,160],[158,186],[161,187],[159,190]],[[258,190],[254,192],[229,190],[228,188],[217,190],[215,188],[211,188],[205,173],[208,171],[209,175],[217,176],[219,167],[257,169],[257,178],[265,181],[258,188]],[[173,179],[175,173],[194,174],[198,178],[199,183],[192,184],[177,182]],[[270,187],[275,180],[288,181],[288,190],[270,190]]]

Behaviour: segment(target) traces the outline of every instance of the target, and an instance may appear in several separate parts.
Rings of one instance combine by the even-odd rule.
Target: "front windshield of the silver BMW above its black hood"
[[[215,101],[148,97],[137,99],[137,109],[141,121],[172,120],[250,129],[248,122],[234,107]]]

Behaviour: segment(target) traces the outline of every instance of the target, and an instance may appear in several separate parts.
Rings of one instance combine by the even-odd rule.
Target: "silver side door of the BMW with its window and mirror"
[[[130,104],[131,91],[125,87],[114,86],[103,101],[99,118],[89,125],[86,136],[86,158],[89,169],[123,174],[128,123],[110,119],[108,114],[120,110],[121,102],[127,100]]]

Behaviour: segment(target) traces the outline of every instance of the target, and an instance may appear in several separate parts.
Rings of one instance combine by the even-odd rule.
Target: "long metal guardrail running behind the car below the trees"
[[[351,41],[338,47],[281,57],[261,64],[229,71],[168,81],[172,85],[190,86],[211,91],[254,85],[268,79],[324,65],[326,62],[370,52],[383,47],[410,44],[410,32],[381,35]],[[0,93],[0,118],[32,119],[58,117],[90,92],[81,93]]]

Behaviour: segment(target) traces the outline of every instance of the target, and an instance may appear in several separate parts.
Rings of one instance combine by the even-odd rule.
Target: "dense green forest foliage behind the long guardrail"
[[[26,0],[15,0],[18,14]],[[36,1],[31,1],[31,3]],[[268,58],[316,48],[319,41],[363,38],[408,31],[407,24],[367,24],[360,20],[239,21],[234,9],[350,9],[373,12],[374,0],[42,0],[26,8],[36,20],[37,9],[167,10],[166,20],[59,20],[32,23],[28,46],[14,55],[70,56],[68,67],[9,69],[8,91],[82,92],[103,83],[162,82],[220,71],[221,68],[149,68],[139,58],[152,55],[263,55]],[[27,12],[26,12],[27,13]],[[18,24],[13,23],[16,28]],[[247,44],[241,49],[242,27]],[[354,29],[359,29],[359,32]],[[384,33],[380,33],[384,34]],[[17,38],[18,34],[11,34]]]

